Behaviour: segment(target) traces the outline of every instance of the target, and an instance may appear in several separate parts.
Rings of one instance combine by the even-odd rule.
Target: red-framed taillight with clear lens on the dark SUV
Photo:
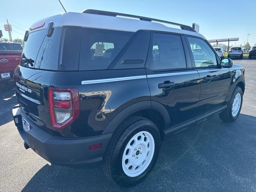
[[[80,102],[76,88],[49,88],[48,104],[52,128],[64,129],[80,114]]]

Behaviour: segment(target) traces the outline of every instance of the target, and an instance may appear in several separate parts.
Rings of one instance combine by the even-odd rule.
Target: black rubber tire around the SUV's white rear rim
[[[154,155],[146,170],[136,177],[127,176],[122,168],[122,155],[130,139],[141,131],[149,132],[154,138]],[[130,187],[142,181],[152,170],[161,146],[160,133],[149,119],[130,116],[115,130],[103,156],[102,168],[107,178],[123,187]]]

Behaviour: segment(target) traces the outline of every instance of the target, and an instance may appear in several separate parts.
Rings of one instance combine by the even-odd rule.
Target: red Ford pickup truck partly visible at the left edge
[[[0,89],[13,88],[13,74],[20,64],[22,46],[16,42],[0,42]]]

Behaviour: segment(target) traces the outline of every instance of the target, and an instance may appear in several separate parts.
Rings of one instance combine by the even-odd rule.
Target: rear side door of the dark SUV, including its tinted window
[[[184,36],[152,32],[146,74],[151,101],[166,108],[171,127],[194,120],[200,97],[199,74],[191,66]]]

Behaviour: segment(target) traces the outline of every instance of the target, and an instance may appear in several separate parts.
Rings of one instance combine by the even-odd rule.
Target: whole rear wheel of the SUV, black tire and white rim
[[[138,184],[152,170],[160,150],[156,125],[143,117],[127,118],[113,133],[103,157],[103,171],[116,184]]]

